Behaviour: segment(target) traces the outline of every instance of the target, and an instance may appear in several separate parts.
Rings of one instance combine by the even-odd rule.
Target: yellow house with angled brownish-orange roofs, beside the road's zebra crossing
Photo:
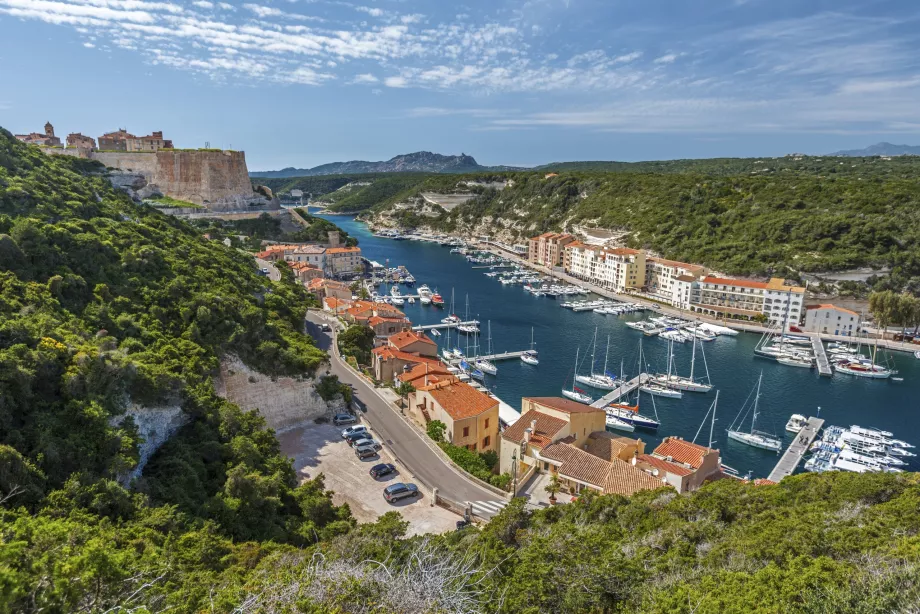
[[[502,432],[499,469],[511,473],[514,467],[523,476],[532,467],[547,471],[539,461],[539,450],[562,439],[571,438],[581,447],[591,433],[606,429],[604,410],[562,397],[524,397],[521,417]]]

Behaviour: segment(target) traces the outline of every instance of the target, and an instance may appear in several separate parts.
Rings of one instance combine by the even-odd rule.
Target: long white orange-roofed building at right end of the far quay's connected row
[[[690,301],[690,311],[734,320],[757,321],[772,326],[797,326],[803,315],[805,288],[788,286],[782,279],[769,282],[704,277]]]

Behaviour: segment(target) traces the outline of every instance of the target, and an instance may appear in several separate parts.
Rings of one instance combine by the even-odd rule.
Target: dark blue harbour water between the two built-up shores
[[[324,216],[325,217],[325,216]],[[638,344],[643,339],[646,362],[654,371],[664,371],[667,366],[667,342],[644,337],[624,325],[624,322],[644,319],[637,313],[628,316],[603,316],[593,312],[574,313],[559,306],[562,301],[534,297],[520,285],[504,286],[496,279],[484,275],[487,269],[473,269],[459,254],[451,254],[446,247],[418,241],[393,241],[374,237],[367,227],[351,217],[328,216],[329,219],[360,241],[363,255],[389,266],[405,265],[418,280],[428,284],[450,302],[451,290],[456,296],[456,313],[465,312],[469,297],[470,316],[481,321],[485,345],[487,322],[492,325],[492,343],[495,352],[522,350],[530,346],[531,327],[534,330],[540,364],[531,366],[519,360],[497,362],[498,374],[486,376],[486,385],[503,401],[520,409],[522,396],[561,396],[563,385],[571,387],[576,349],[581,354],[590,353],[595,327],[598,328],[598,366],[603,368],[603,354],[610,335],[608,370],[619,373],[620,361],[627,377],[637,373]],[[409,290],[403,288],[403,293]],[[583,297],[576,297],[583,298]],[[440,322],[448,309],[423,307],[420,303],[406,304],[406,315],[415,324]],[[446,332],[432,337],[443,345]],[[452,345],[455,334],[451,334]],[[903,382],[868,380],[845,375],[822,378],[816,370],[786,367],[773,361],[754,358],[753,349],[759,335],[742,333],[737,337],[719,337],[712,343],[697,347],[696,373],[705,373],[700,357],[700,347],[706,354],[711,381],[719,390],[719,404],[713,446],[722,452],[723,462],[742,474],[753,472],[754,477],[766,477],[776,464],[777,455],[744,444],[729,441],[725,430],[735,419],[745,400],[757,384],[763,371],[758,430],[773,432],[788,444],[792,435],[784,426],[789,416],[801,413],[821,417],[827,424],[872,426],[892,431],[895,436],[920,445],[920,360],[911,354],[893,352],[891,360],[900,371]],[[466,336],[460,336],[460,347],[466,350]],[[678,373],[688,375],[692,344],[675,344],[675,366]],[[482,348],[483,353],[485,348]],[[581,373],[589,369],[590,358],[582,363]],[[603,392],[580,386],[595,398]],[[683,399],[654,398],[645,394],[641,399],[644,414],[657,413],[661,428],[656,434],[636,431],[635,436],[646,442],[650,451],[667,435],[692,439],[709,409],[715,390],[707,394],[685,392]],[[750,422],[748,422],[749,426]],[[698,443],[709,441],[709,424],[703,427]],[[920,469],[914,462],[911,470]]]

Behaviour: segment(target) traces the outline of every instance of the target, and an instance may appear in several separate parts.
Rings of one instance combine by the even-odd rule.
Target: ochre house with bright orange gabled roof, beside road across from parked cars
[[[498,399],[457,378],[416,388],[409,395],[409,408],[426,424],[443,422],[447,427],[444,437],[455,446],[473,452],[498,450]]]

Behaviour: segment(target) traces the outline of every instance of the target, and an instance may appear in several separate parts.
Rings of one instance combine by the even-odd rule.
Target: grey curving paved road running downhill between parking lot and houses
[[[329,334],[319,329],[318,323],[325,321],[321,315],[310,312],[307,315],[307,332],[322,349],[329,351],[331,373],[337,375],[342,383],[350,385],[355,397],[366,407],[362,417],[375,432],[376,438],[389,448],[419,482],[428,488],[437,487],[445,497],[460,502],[498,502],[501,497],[477,486],[445,464],[422,441],[421,436],[396,415],[396,410],[377,394],[373,386],[342,364],[341,359],[330,350]],[[493,512],[492,506],[478,507],[477,512],[487,509],[490,513],[483,515],[491,517],[500,508],[494,506]]]

